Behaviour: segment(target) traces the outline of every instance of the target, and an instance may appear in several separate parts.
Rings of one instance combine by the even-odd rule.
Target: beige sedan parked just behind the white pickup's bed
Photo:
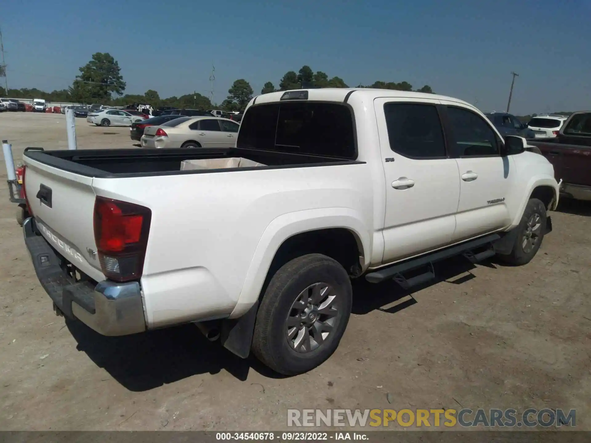
[[[160,126],[148,126],[142,148],[233,148],[240,125],[216,117],[180,117]]]

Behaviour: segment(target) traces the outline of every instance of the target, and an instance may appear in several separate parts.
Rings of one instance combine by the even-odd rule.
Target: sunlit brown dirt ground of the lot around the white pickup
[[[134,143],[129,128],[79,119],[76,131],[80,149]],[[15,161],[26,146],[64,149],[64,116],[0,113],[0,138]],[[577,429],[591,430],[588,204],[561,201],[553,232],[520,268],[454,259],[411,294],[356,281],[336,353],[284,378],[193,325],[109,338],[64,323],[0,169],[2,430],[280,430],[288,408],[575,408]]]

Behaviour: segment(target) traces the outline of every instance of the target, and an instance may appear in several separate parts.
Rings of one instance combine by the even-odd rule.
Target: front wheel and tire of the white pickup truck
[[[498,255],[499,259],[510,265],[521,266],[529,263],[540,249],[546,230],[546,208],[537,198],[527,202],[521,222],[517,229],[517,238],[511,253]],[[533,226],[532,226],[533,224]]]

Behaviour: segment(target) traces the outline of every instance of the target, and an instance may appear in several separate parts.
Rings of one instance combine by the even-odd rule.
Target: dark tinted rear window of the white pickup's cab
[[[292,154],[357,158],[353,116],[330,102],[285,102],[251,106],[245,113],[239,148]]]

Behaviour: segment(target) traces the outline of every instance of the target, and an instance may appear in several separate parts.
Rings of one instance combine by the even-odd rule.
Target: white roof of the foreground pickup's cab
[[[402,99],[431,99],[431,100],[449,100],[474,108],[470,103],[437,94],[428,94],[424,92],[398,91],[394,89],[372,89],[372,88],[320,88],[320,89],[297,89],[298,91],[307,91],[308,100],[320,100],[326,102],[344,102],[345,98],[355,93],[355,96],[362,95],[363,98],[373,100],[378,97],[396,97]],[[279,102],[281,96],[287,91],[277,91],[268,94],[258,95],[251,100],[251,103],[271,103]]]

